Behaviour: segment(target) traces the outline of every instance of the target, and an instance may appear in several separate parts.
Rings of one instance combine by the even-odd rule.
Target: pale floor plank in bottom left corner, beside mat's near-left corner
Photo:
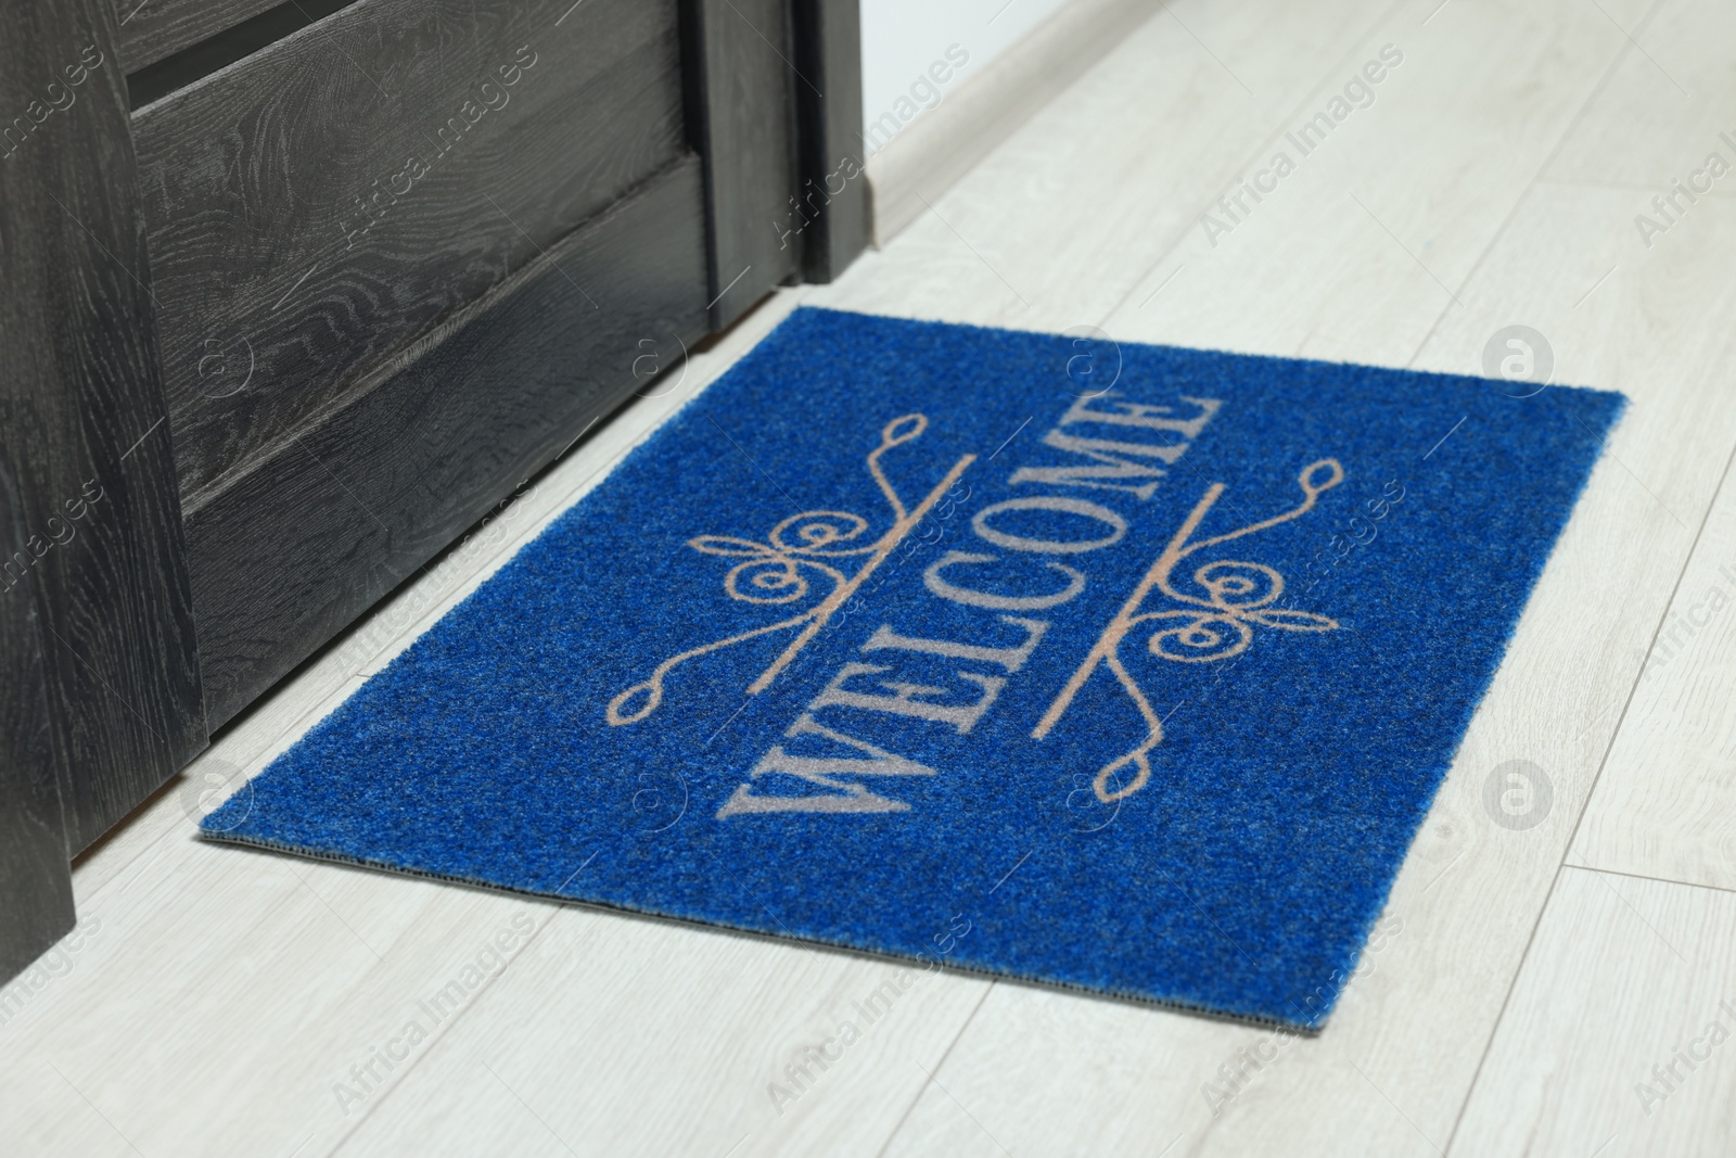
[[[333,1083],[356,1083],[349,1068],[495,936],[517,948],[552,908],[247,859],[187,842],[92,898],[89,948],[33,1017],[5,1026],[9,1089],[66,1085],[5,1099],[9,1153],[71,1153],[64,1130],[87,1109],[146,1155],[323,1153],[319,1135],[356,1108]],[[479,984],[498,984],[493,962]],[[460,1012],[474,1000],[465,993]],[[437,1042],[444,1028],[422,1021]],[[399,1076],[378,1075],[361,1108]]]

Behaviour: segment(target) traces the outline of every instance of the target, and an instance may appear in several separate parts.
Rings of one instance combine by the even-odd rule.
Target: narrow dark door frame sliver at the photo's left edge
[[[28,550],[24,507],[0,444],[0,552]],[[73,870],[54,766],[31,580],[0,590],[0,986],[73,927]],[[10,1017],[0,995],[0,1019]]]

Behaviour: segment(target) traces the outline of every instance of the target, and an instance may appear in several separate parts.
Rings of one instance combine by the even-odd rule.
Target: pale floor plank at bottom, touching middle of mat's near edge
[[[337,1153],[873,1155],[988,988],[898,974],[569,910]]]

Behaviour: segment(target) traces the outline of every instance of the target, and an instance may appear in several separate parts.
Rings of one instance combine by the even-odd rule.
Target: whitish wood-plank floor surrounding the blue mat
[[[1208,243],[1208,203],[1387,43],[1375,102]],[[1736,1153],[1736,174],[1649,247],[1634,222],[1713,151],[1736,161],[1727,0],[1174,0],[89,854],[82,931],[0,1002],[0,1153]],[[1318,1040],[936,976],[779,1113],[769,1083],[887,965],[193,840],[200,792],[259,771],[800,300],[1465,373],[1528,325],[1555,380],[1632,398]],[[1549,785],[1524,819],[1484,804],[1510,760]],[[502,932],[505,964],[406,1042]]]

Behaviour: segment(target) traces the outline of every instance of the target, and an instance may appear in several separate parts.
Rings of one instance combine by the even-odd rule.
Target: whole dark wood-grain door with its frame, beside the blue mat
[[[0,694],[45,720],[0,806],[56,813],[0,858],[24,946],[69,918],[43,847],[87,847],[644,387],[646,349],[847,264],[866,200],[832,188],[854,0],[0,19]]]

